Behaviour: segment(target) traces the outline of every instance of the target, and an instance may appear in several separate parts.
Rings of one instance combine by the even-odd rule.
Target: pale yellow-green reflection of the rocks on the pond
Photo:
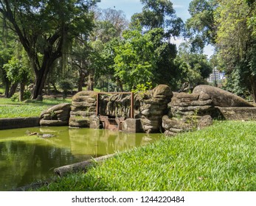
[[[115,132],[107,129],[69,129],[72,154],[112,154],[153,141],[145,134]]]

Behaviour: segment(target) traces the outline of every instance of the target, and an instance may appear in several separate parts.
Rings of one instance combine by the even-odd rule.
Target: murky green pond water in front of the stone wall
[[[40,138],[33,132],[54,135]],[[0,191],[54,177],[54,168],[152,143],[159,134],[32,127],[0,130]]]

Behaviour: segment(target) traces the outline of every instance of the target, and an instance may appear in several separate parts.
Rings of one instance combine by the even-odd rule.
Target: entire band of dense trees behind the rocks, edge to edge
[[[1,87],[8,98],[17,88],[30,90],[32,99],[84,88],[166,84],[181,90],[184,84],[206,83],[217,68],[226,75],[226,90],[256,99],[253,0],[193,0],[186,24],[169,0],[141,0],[142,11],[131,20],[120,10],[98,8],[96,0],[0,3]],[[171,39],[181,36],[186,42],[177,49]],[[215,46],[210,59],[204,55],[207,44]],[[22,65],[11,66],[15,61]],[[20,79],[21,74],[28,78]]]

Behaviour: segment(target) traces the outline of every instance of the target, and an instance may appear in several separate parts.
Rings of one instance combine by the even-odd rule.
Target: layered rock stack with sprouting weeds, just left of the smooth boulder
[[[205,93],[174,93],[168,104],[168,116],[163,116],[162,127],[165,135],[176,135],[197,129],[205,119],[212,121],[211,113],[214,111],[212,99]],[[202,118],[207,116],[208,118]],[[209,123],[204,123],[204,125]]]

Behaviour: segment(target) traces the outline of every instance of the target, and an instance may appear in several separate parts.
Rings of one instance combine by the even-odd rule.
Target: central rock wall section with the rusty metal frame
[[[98,108],[102,116],[100,119],[107,121],[107,118],[111,118],[116,121],[118,129],[122,128],[123,123],[123,129],[127,131],[159,132],[162,128],[162,116],[167,114],[167,104],[172,96],[173,93],[167,85],[159,85],[153,90],[136,93],[134,96],[136,121],[125,121],[131,118],[131,94],[100,94]],[[99,128],[96,107],[97,93],[89,91],[77,93],[72,99],[69,126]],[[129,129],[130,126],[133,129]]]

